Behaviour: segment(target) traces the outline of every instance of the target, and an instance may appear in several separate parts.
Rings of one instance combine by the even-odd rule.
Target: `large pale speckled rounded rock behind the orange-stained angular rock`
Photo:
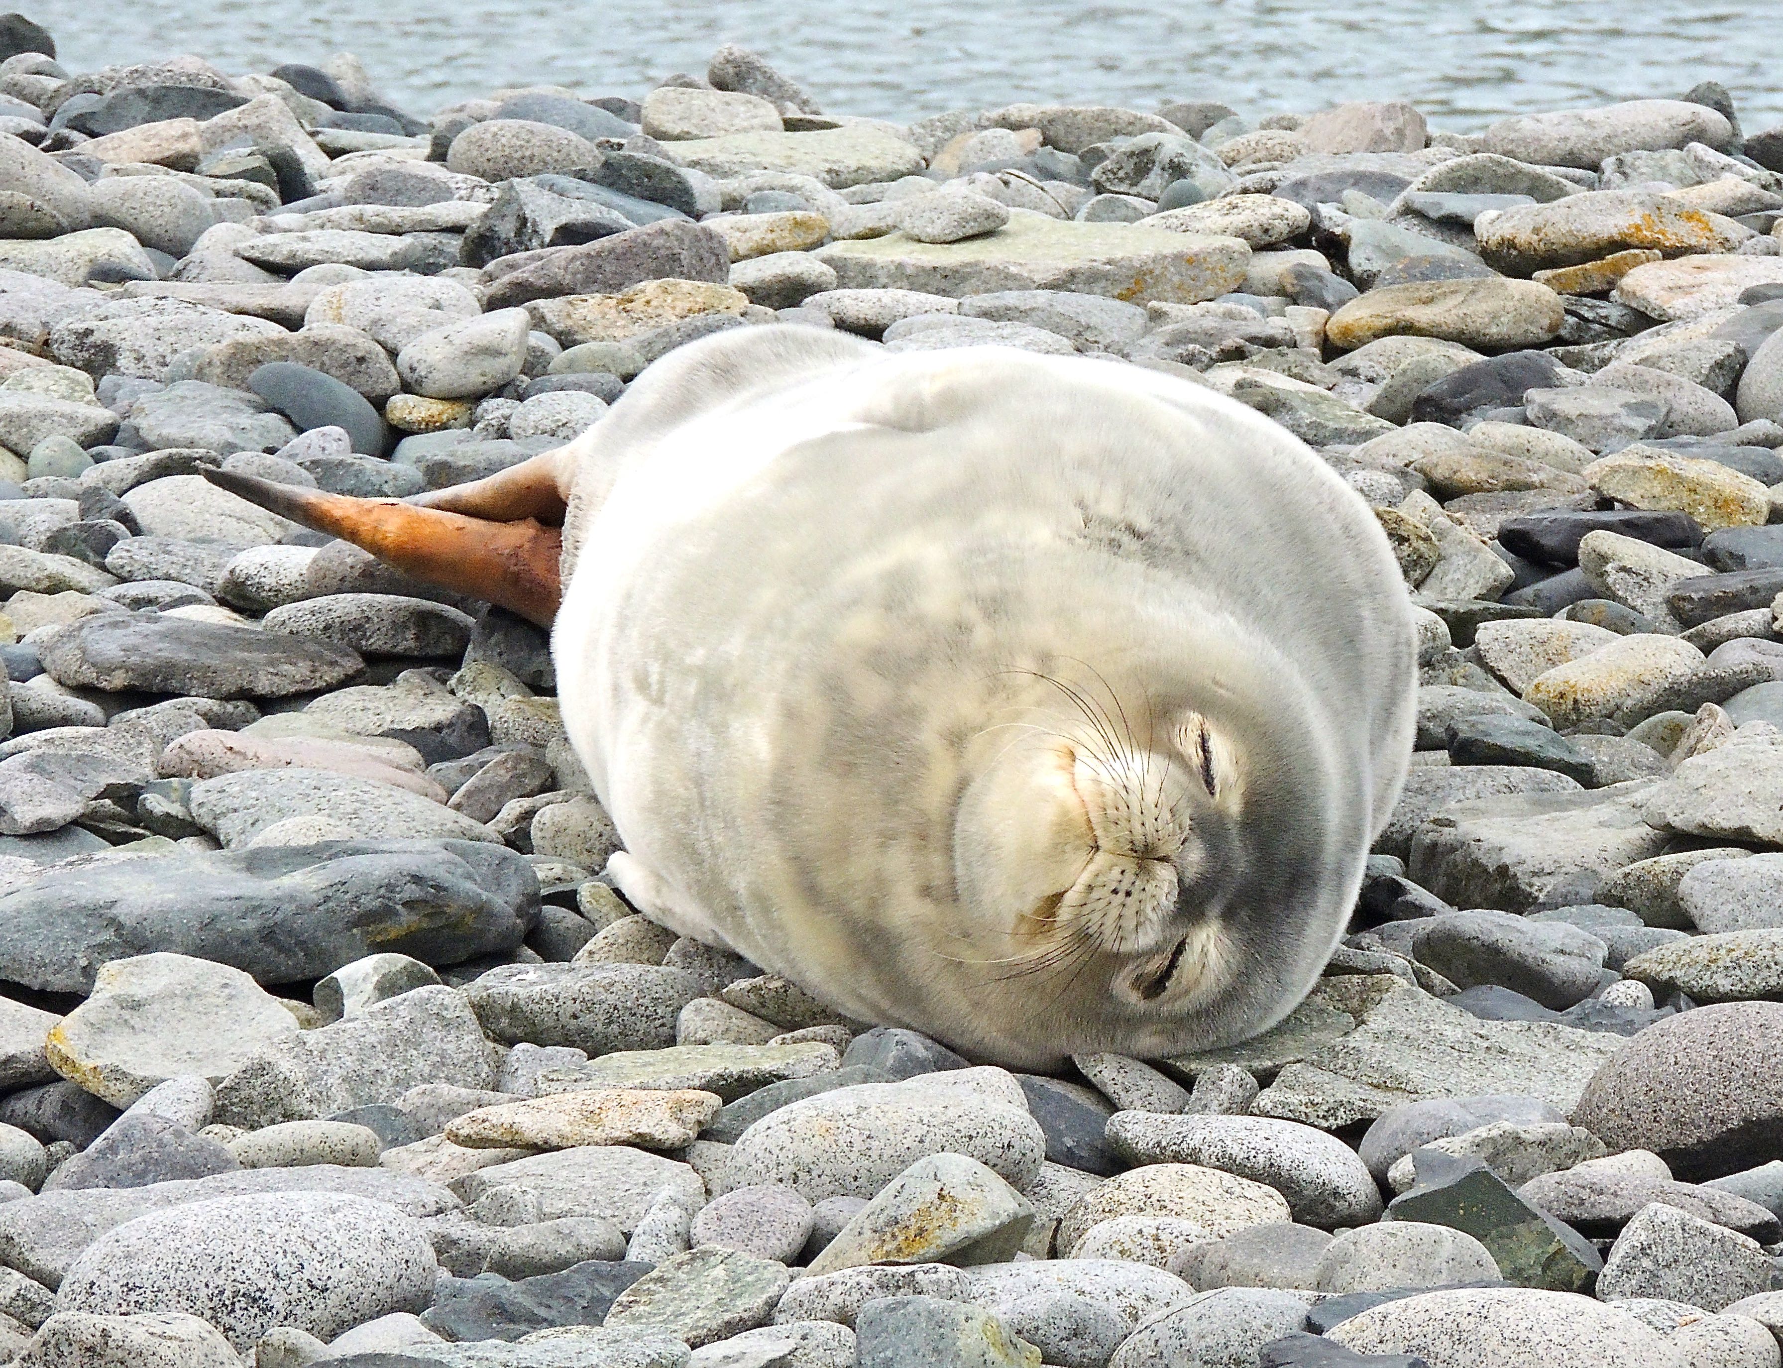
[[[952,1152],[988,1165],[1020,1191],[1039,1172],[1045,1149],[1020,1084],[998,1068],[965,1068],[783,1106],[736,1138],[727,1186],[781,1183],[811,1202],[872,1197],[915,1159]]]

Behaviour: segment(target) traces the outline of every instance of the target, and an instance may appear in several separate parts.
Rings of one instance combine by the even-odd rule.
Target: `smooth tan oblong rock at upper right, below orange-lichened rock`
[[[1541,346],[1565,312],[1546,285],[1521,280],[1432,280],[1385,285],[1352,300],[1325,325],[1332,346],[1353,350],[1378,337],[1441,337],[1464,346]]]

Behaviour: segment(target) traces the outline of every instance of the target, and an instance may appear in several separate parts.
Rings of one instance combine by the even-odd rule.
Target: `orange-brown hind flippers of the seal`
[[[203,476],[280,517],[353,542],[417,580],[549,628],[563,597],[558,558],[565,498],[555,455],[424,494],[424,505],[325,494],[214,467]]]

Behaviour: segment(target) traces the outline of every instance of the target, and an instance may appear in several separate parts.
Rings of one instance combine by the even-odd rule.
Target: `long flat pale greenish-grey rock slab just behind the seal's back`
[[[892,287],[954,298],[1056,289],[1139,303],[1195,303],[1243,284],[1248,248],[1230,237],[1018,214],[1000,232],[965,243],[925,244],[890,234],[831,243],[815,255],[836,271],[843,289]]]

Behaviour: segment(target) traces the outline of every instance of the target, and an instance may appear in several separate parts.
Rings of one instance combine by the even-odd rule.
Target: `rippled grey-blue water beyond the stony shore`
[[[1778,0],[27,0],[70,68],[196,52],[228,71],[355,52],[430,114],[497,86],[640,96],[726,41],[836,112],[911,119],[1013,100],[1223,100],[1241,112],[1414,102],[1435,127],[1733,91],[1783,123]]]

